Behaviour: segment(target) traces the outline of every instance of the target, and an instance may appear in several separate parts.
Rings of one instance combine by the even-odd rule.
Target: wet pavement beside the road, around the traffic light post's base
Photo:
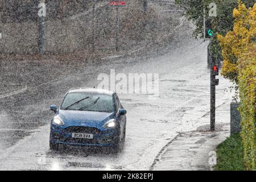
[[[209,131],[209,124],[177,134],[156,157],[151,170],[214,170],[209,159],[215,158],[216,147],[230,134],[229,103],[217,107],[216,131]],[[218,117],[220,118],[218,118]],[[209,123],[209,114],[201,118]],[[211,159],[212,159],[211,158]],[[216,159],[216,158],[215,158]]]

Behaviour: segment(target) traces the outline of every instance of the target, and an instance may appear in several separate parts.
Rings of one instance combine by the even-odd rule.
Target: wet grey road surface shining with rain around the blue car
[[[24,69],[17,66],[13,77],[16,92],[0,96],[0,169],[150,169],[166,143],[181,131],[205,125],[200,118],[209,114],[207,44],[194,40],[191,28],[187,21],[181,22],[168,41],[137,55],[68,65],[51,60],[44,60],[45,65],[19,63],[31,70],[19,78]],[[53,116],[49,105],[59,106],[69,88],[97,86],[97,76],[109,75],[110,69],[125,74],[159,73],[158,97],[119,94],[127,110],[123,151],[112,155],[76,147],[49,150],[49,121]],[[230,100],[225,92],[230,83],[223,78],[220,82],[217,105]]]

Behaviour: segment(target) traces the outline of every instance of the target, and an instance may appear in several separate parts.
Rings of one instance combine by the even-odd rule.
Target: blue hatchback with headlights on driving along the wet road
[[[49,147],[59,144],[72,146],[108,147],[113,152],[125,143],[126,110],[115,92],[80,88],[69,90],[51,121]]]

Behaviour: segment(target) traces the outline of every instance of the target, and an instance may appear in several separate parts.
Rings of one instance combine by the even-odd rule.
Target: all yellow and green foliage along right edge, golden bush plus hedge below
[[[237,81],[240,90],[241,137],[246,169],[256,169],[256,3],[253,8],[238,1],[234,28],[226,36],[217,35],[224,65],[221,75]]]

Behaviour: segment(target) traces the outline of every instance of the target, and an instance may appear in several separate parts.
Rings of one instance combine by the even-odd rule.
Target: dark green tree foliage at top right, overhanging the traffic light
[[[195,24],[196,29],[193,31],[195,38],[203,38],[203,10],[208,10],[207,7],[212,2],[217,5],[217,17],[210,19],[214,30],[220,35],[225,35],[233,29],[234,18],[232,13],[233,9],[238,7],[237,0],[175,0],[175,2],[184,9],[184,15]],[[251,7],[255,0],[243,0],[243,2],[246,7]],[[221,48],[216,35],[213,36],[209,49],[217,60],[222,60]]]

